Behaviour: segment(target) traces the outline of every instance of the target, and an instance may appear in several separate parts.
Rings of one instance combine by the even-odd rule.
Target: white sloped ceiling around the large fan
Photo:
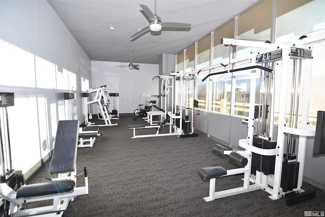
[[[140,4],[154,13],[154,0],[47,0],[90,59],[158,64],[162,53],[176,54],[258,0],[157,0],[163,22],[190,23],[188,32],[161,32],[131,42],[148,25]],[[114,30],[110,30],[114,27]]]

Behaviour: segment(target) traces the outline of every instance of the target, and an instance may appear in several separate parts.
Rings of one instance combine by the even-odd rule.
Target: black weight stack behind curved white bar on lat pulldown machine
[[[273,149],[276,147],[276,141],[253,137],[253,146],[263,149]],[[252,153],[252,173],[255,173],[255,170],[257,170],[263,172],[265,175],[274,174],[274,168],[275,156]]]

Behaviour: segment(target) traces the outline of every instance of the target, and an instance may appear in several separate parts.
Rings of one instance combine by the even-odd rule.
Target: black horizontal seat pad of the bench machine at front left
[[[17,190],[16,198],[67,193],[73,191],[74,187],[75,181],[70,179],[27,184]]]

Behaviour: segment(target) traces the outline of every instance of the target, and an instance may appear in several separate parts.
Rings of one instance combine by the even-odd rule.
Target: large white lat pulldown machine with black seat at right
[[[245,46],[247,41],[223,39],[223,44]],[[231,170],[220,166],[199,168],[199,176],[210,181],[209,196],[204,200],[209,202],[263,190],[270,194],[269,198],[272,200],[290,195],[286,198],[286,203],[292,205],[315,197],[315,192],[306,193],[302,189],[306,140],[307,137],[315,136],[315,130],[308,125],[312,48],[295,44],[278,46],[258,42],[254,45],[268,49],[249,57],[251,67],[235,69],[251,70],[248,136],[239,140],[239,146],[244,150],[228,150],[218,144],[213,147],[214,153],[229,155],[230,161],[242,167]],[[231,64],[235,62],[236,59],[231,60]],[[257,107],[255,87],[258,75],[253,69],[261,69]],[[275,76],[278,73],[281,73],[281,94],[278,101],[278,129],[275,134],[274,91]],[[256,116],[257,134],[254,134]],[[273,139],[273,135],[277,138]],[[244,174],[242,187],[215,192],[216,178],[234,174]]]

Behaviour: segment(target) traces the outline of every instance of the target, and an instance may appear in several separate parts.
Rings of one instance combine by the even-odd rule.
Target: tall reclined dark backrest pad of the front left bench
[[[60,120],[57,125],[50,173],[72,172],[76,168],[78,120]]]

